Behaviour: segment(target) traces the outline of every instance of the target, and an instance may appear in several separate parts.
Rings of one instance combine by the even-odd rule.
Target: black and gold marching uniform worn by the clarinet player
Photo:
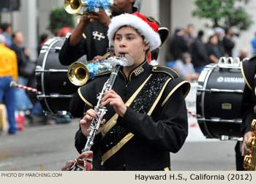
[[[103,170],[170,168],[170,152],[178,152],[188,134],[184,96],[190,84],[172,69],[151,66],[147,61],[133,69],[129,77],[121,70],[113,90],[121,96],[127,111],[121,118],[113,107],[106,106],[106,123],[94,139],[92,150],[100,149]],[[79,117],[96,106],[110,72],[95,75],[78,89],[70,103],[72,115]],[[86,137],[79,129],[75,147],[81,153],[85,145]]]

